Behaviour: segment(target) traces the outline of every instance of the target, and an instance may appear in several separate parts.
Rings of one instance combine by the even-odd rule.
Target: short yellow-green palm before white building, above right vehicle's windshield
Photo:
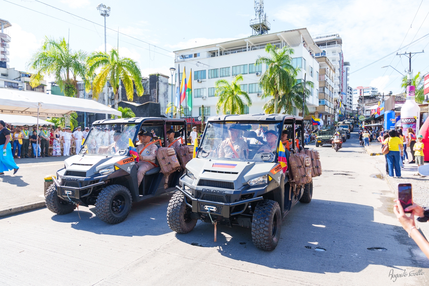
[[[230,83],[226,79],[219,79],[215,82],[215,96],[219,96],[216,102],[216,113],[222,111],[223,114],[243,114],[245,104],[241,98],[243,96],[248,106],[252,105],[247,92],[240,87],[239,81],[243,81],[243,75],[237,75]]]

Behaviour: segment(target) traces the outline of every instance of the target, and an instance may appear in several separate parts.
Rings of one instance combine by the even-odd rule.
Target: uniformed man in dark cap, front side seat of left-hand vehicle
[[[157,157],[158,147],[155,143],[151,143],[152,133],[148,131],[140,130],[139,133],[139,142],[136,143],[137,153],[139,153],[139,163],[136,163],[137,166],[137,181],[139,186],[143,181],[145,173],[150,169],[157,167],[155,160]],[[145,148],[149,145],[147,148]],[[144,149],[144,150],[143,150]]]

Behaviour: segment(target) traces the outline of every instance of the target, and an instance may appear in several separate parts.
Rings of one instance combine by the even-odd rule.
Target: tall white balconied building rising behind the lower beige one
[[[342,51],[342,39],[339,34],[315,37],[314,42],[322,50],[317,56],[327,57],[335,68],[334,75],[334,119],[338,121],[338,115],[344,114],[345,96],[347,91],[347,81],[344,81],[344,57]],[[344,98],[343,98],[344,97]],[[341,103],[340,103],[341,102]]]

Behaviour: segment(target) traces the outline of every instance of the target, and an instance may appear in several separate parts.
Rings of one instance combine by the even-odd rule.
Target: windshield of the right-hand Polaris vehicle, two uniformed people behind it
[[[280,122],[208,122],[197,158],[273,162]]]

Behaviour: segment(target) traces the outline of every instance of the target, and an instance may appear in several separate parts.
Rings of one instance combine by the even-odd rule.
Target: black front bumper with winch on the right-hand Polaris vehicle
[[[216,208],[221,208],[220,213],[216,213],[216,212],[211,212],[211,214],[215,214],[215,215],[221,215],[222,217],[228,218],[230,216],[234,216],[237,214],[241,214],[243,213],[248,204],[251,202],[257,202],[263,199],[263,197],[257,197],[257,198],[251,198],[251,199],[244,199],[238,202],[233,202],[233,203],[222,203],[222,202],[210,202],[210,201],[205,201],[202,199],[195,199],[191,196],[190,193],[188,193],[187,191],[183,190],[181,187],[176,186],[176,189],[179,190],[187,199],[191,200],[191,204],[189,204],[185,198],[185,203],[192,208],[192,211],[197,213],[209,213],[208,211],[202,211],[202,206],[201,205],[209,205],[209,206],[215,206]],[[234,206],[238,206],[238,205],[243,205],[245,204],[244,208],[242,209],[242,211],[236,211],[233,213],[230,213],[230,207],[234,207]]]

